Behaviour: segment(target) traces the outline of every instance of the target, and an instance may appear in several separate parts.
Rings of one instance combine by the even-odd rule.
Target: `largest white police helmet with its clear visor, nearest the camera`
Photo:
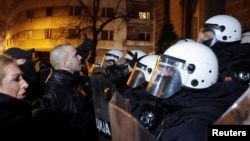
[[[218,60],[207,46],[185,42],[170,46],[158,59],[147,91],[168,98],[180,88],[206,89],[217,82]]]

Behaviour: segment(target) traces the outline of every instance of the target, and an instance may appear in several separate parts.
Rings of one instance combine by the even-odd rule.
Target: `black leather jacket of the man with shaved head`
[[[52,137],[70,140],[96,140],[93,105],[77,91],[74,74],[53,70],[42,97],[44,109],[36,116],[50,129]]]

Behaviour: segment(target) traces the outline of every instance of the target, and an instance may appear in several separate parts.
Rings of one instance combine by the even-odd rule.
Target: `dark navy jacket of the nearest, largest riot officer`
[[[183,88],[167,99],[153,98],[145,88],[130,89],[123,95],[129,98],[132,115],[160,141],[207,141],[208,126],[247,88],[227,81],[198,91]]]

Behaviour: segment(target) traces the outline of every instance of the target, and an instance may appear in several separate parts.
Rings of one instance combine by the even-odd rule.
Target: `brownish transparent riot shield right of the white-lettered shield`
[[[129,113],[129,101],[114,93],[109,102],[112,140],[114,141],[157,141],[139,121]]]

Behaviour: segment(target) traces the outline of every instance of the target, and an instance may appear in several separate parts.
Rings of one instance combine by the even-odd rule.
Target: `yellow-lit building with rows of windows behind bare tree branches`
[[[0,12],[3,50],[20,47],[48,52],[55,45],[65,42],[78,46],[85,34],[93,38],[93,28],[90,28],[93,20],[88,15],[94,13],[93,0],[81,0],[86,7],[79,0],[2,1],[5,3],[1,3]],[[153,1],[101,0],[95,20],[96,30],[114,14],[123,18],[113,19],[98,31],[97,54],[114,48],[124,51],[136,48],[151,52],[155,39]],[[134,4],[137,8],[131,8]]]

